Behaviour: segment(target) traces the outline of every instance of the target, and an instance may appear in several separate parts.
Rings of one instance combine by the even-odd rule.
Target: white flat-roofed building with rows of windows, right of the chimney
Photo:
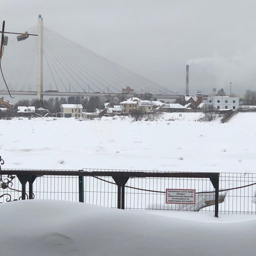
[[[207,109],[223,110],[239,108],[239,97],[229,96],[209,96],[207,102],[204,102]]]

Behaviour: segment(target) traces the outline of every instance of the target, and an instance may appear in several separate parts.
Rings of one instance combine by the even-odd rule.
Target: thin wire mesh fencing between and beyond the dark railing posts
[[[49,170],[48,170],[49,171]],[[84,169],[84,171],[116,171]],[[134,172],[134,171],[133,171]],[[2,175],[3,180],[7,175]],[[117,186],[111,176],[85,176],[84,202],[105,207],[117,207]],[[0,188],[0,202],[10,194],[19,199],[21,184],[17,177],[12,189]],[[195,204],[166,204],[166,189],[195,189]],[[26,191],[29,184],[26,184]],[[33,183],[35,199],[79,201],[79,177],[44,175]],[[208,178],[131,177],[125,185],[125,209],[154,209],[214,212],[215,189]],[[256,214],[256,174],[221,173],[219,180],[219,213]]]

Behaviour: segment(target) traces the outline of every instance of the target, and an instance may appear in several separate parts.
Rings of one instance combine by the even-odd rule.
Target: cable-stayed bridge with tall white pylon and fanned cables
[[[1,66],[12,95],[117,96],[129,86],[154,98],[181,97],[43,26],[41,15],[28,32],[38,36],[21,42],[10,37],[3,49]],[[0,78],[0,94],[8,94],[6,84]]]

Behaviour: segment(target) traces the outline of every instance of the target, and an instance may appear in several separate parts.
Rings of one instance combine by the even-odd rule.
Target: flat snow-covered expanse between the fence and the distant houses
[[[255,172],[256,113],[238,113],[224,124],[198,122],[200,116],[0,120],[3,168]]]

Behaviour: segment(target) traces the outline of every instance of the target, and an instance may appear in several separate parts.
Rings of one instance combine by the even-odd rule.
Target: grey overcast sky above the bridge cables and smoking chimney
[[[44,26],[172,91],[244,94],[256,80],[255,0],[1,0],[6,31]]]

